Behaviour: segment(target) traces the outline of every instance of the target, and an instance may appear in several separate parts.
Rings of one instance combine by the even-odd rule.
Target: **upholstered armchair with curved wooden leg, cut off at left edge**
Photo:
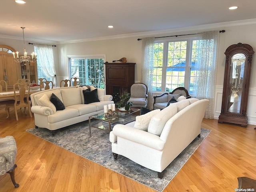
[[[14,179],[14,170],[17,167],[15,164],[16,154],[17,146],[13,136],[0,138],[0,175],[9,173],[14,187],[18,188],[19,184]]]

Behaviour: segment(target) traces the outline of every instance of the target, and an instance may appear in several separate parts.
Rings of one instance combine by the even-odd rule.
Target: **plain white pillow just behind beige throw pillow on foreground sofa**
[[[177,102],[178,103],[178,102]],[[178,112],[176,104],[169,105],[154,115],[148,125],[148,132],[160,136],[166,122]]]

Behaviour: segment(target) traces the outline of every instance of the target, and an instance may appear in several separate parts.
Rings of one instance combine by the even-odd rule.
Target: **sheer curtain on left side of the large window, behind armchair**
[[[148,86],[148,108],[151,108],[152,100],[152,76],[154,58],[154,37],[142,39],[142,83]]]

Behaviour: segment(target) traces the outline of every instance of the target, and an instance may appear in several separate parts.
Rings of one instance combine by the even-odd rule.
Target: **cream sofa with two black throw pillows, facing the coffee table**
[[[90,86],[94,90],[94,86]],[[44,90],[31,94],[32,107],[31,111],[34,113],[36,128],[47,128],[49,130],[56,130],[65,126],[76,124],[88,120],[89,116],[104,112],[104,105],[112,104],[111,95],[105,95],[105,89],[98,89],[98,98],[100,102],[84,104],[83,87],[62,87]],[[44,95],[50,96],[54,93],[64,104],[64,110],[54,110],[48,106],[43,106],[40,98]],[[53,132],[54,134],[54,132]]]

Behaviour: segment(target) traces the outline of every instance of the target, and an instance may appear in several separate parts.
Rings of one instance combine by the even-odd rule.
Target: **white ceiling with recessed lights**
[[[25,1],[1,0],[0,37],[23,38],[24,26],[25,40],[65,42],[256,18],[255,0]]]

